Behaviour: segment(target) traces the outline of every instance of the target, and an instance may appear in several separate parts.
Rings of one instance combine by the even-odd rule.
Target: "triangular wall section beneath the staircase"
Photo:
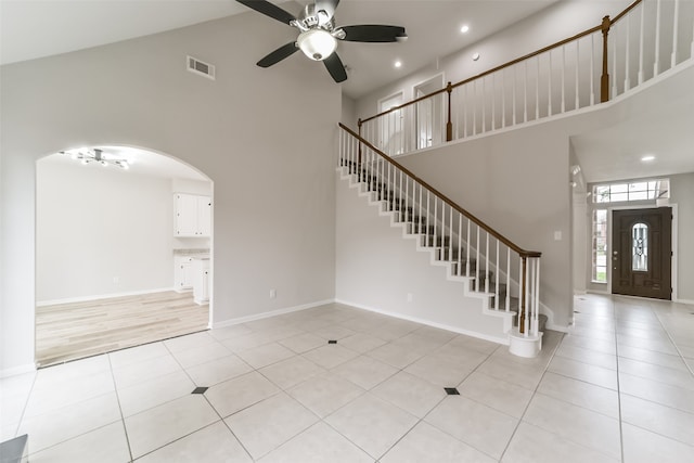
[[[463,283],[448,281],[445,267],[430,265],[430,252],[417,252],[414,239],[403,239],[347,180],[338,180],[336,208],[338,301],[506,340],[503,320],[484,314],[481,299],[465,297]]]

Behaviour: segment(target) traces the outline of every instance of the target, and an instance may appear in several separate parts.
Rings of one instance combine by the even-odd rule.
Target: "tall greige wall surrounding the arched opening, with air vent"
[[[34,361],[36,160],[70,146],[167,153],[214,181],[214,323],[334,297],[339,86],[298,55],[255,65],[293,37],[249,12],[0,68],[0,375]]]

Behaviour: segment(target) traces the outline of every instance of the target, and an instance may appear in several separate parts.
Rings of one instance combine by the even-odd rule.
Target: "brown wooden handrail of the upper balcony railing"
[[[515,64],[518,64],[518,63],[520,63],[523,61],[529,60],[529,59],[535,57],[537,55],[540,55],[542,53],[547,53],[548,51],[554,50],[555,48],[560,48],[562,46],[565,46],[566,43],[569,43],[569,42],[573,42],[575,40],[581,39],[581,38],[583,38],[586,36],[589,36],[591,34],[594,34],[594,33],[597,33],[597,31],[602,31],[603,33],[604,41],[606,42],[606,36],[607,36],[607,31],[609,30],[609,26],[612,26],[613,24],[615,24],[616,22],[621,20],[627,13],[629,13],[632,9],[634,9],[643,0],[635,0],[633,3],[631,3],[629,7],[627,7],[621,13],[617,14],[614,20],[609,20],[609,16],[605,16],[603,18],[603,22],[601,22],[601,24],[595,26],[595,27],[591,27],[590,29],[587,29],[587,30],[583,30],[582,33],[576,34],[575,36],[571,36],[571,37],[566,38],[564,40],[560,40],[556,43],[552,43],[551,46],[544,47],[544,48],[542,48],[540,50],[534,51],[531,53],[528,53],[528,54],[523,55],[520,57],[517,57],[515,60],[509,61],[507,63],[504,63],[504,64],[499,65],[497,67],[492,67],[489,70],[485,70],[484,73],[477,74],[477,75],[475,75],[473,77],[468,77],[467,79],[461,80],[460,82],[452,83],[452,85],[449,82],[447,87],[445,87],[445,88],[442,88],[440,90],[437,90],[435,92],[425,94],[424,97],[420,97],[416,100],[412,100],[412,101],[409,101],[407,103],[402,103],[402,104],[400,104],[398,106],[394,106],[394,107],[391,107],[389,110],[386,110],[386,111],[384,111],[382,113],[378,113],[378,114],[376,114],[374,116],[367,117],[364,119],[359,119],[358,125],[361,127],[361,125],[364,124],[364,123],[368,123],[368,121],[370,121],[372,119],[375,119],[377,117],[381,117],[381,116],[385,116],[386,114],[393,113],[395,111],[402,110],[403,107],[407,107],[407,106],[410,106],[412,104],[419,103],[419,102],[421,102],[423,100],[427,100],[427,99],[429,99],[432,97],[435,97],[435,95],[437,95],[439,93],[444,93],[444,92],[448,91],[449,94],[450,94],[450,90],[452,90],[454,88],[464,86],[464,85],[470,83],[470,82],[472,82],[474,80],[477,80],[477,79],[481,79],[483,77],[486,77],[486,76],[488,76],[490,74],[493,74],[493,73],[497,73],[499,70],[505,69],[506,67],[511,67],[511,66],[513,66]],[[605,18],[606,18],[606,21],[605,21]],[[606,60],[607,60],[607,52],[604,50],[604,52],[603,52],[603,61],[606,62]],[[608,76],[605,73],[603,73],[602,80],[603,80],[603,82],[608,82]],[[603,87],[604,87],[604,83],[603,83]],[[607,83],[607,87],[608,87],[608,83]],[[603,101],[603,102],[607,101],[604,92],[602,93],[601,101]]]

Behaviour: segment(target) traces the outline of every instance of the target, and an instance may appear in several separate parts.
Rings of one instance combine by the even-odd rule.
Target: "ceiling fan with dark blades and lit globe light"
[[[239,3],[299,29],[295,41],[274,50],[258,61],[260,67],[270,67],[296,51],[301,50],[309,59],[322,61],[336,82],[347,80],[347,73],[335,52],[337,40],[350,42],[395,42],[408,38],[404,27],[364,24],[335,27],[335,9],[339,0],[316,0],[307,4],[299,17],[282,10],[267,0],[236,0]]]

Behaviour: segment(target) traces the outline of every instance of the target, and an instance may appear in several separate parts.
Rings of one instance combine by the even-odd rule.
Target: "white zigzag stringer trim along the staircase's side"
[[[441,247],[440,246],[426,246],[424,245],[423,237],[426,236],[423,233],[410,233],[409,226],[411,222],[400,221],[399,220],[399,211],[398,210],[388,210],[388,202],[384,200],[377,198],[377,193],[374,191],[368,191],[367,183],[360,182],[358,176],[356,173],[349,173],[347,167],[338,167],[337,172],[339,178],[343,181],[347,181],[349,189],[357,190],[357,193],[360,197],[363,197],[368,205],[377,209],[377,214],[380,217],[387,218],[391,228],[399,229],[400,235],[404,240],[413,240],[414,241],[414,250],[419,253],[428,253],[428,263],[432,267],[445,269],[445,279],[449,282],[460,283],[463,290],[463,297],[477,301],[473,303],[473,305],[477,304],[479,307],[479,313],[485,317],[490,317],[498,320],[499,323],[499,332],[493,337],[493,340],[499,343],[509,344],[507,333],[513,329],[514,318],[516,316],[515,311],[505,311],[505,310],[496,310],[492,308],[492,297],[493,293],[478,292],[474,291],[474,281],[475,276],[463,276],[457,275],[453,273],[452,262],[440,260],[437,258]],[[440,325],[440,323],[433,323],[435,325]],[[464,329],[463,329],[464,330]],[[475,335],[475,333],[471,333],[466,331],[466,334]],[[490,338],[488,333],[479,333],[479,337]]]

